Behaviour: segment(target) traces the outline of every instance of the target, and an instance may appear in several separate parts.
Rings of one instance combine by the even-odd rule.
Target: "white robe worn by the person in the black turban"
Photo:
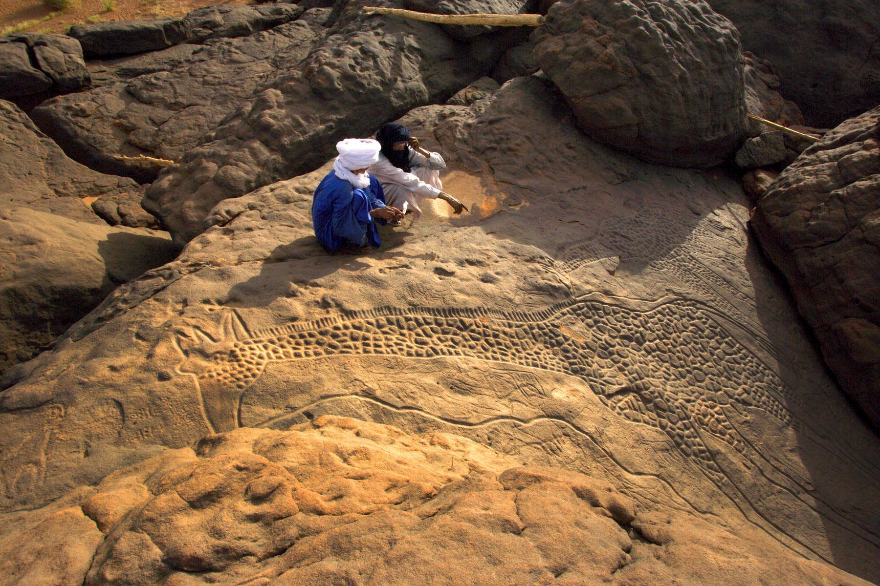
[[[408,208],[413,210],[414,220],[418,220],[422,215],[422,208],[416,198],[436,199],[440,195],[443,191],[440,171],[446,169],[446,162],[440,153],[431,153],[429,158],[410,148],[409,167],[410,172],[407,173],[379,153],[378,163],[370,167],[369,173],[382,184],[385,204],[400,210],[406,201]]]

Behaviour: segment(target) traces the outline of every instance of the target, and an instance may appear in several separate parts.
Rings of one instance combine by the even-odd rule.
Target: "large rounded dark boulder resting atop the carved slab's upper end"
[[[533,34],[539,67],[591,137],[645,161],[710,167],[746,133],[743,56],[702,0],[563,0]]]

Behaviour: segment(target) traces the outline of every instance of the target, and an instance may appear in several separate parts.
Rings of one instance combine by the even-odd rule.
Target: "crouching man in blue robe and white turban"
[[[312,200],[312,224],[326,250],[366,254],[378,247],[376,221],[400,220],[403,213],[385,206],[385,194],[367,167],[378,161],[381,145],[370,139],[345,139],[336,143],[339,156],[334,170],[324,177]]]

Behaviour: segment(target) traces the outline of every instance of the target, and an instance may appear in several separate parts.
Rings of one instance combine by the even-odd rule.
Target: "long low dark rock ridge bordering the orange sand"
[[[295,4],[205,6],[182,18],[73,25],[70,36],[79,41],[89,58],[137,54],[158,51],[184,41],[247,36],[294,20],[302,13],[303,8]]]

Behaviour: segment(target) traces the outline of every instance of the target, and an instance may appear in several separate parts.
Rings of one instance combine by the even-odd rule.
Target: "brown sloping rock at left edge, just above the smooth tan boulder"
[[[0,206],[27,206],[103,224],[89,208],[94,199],[138,190],[128,177],[104,175],[71,161],[25,112],[0,100]]]

